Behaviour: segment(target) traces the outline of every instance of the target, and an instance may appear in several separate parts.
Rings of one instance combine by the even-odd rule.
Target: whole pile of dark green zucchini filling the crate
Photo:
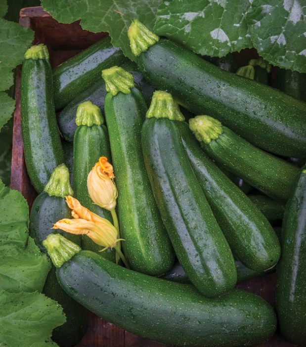
[[[44,293],[67,317],[53,341],[75,346],[89,310],[172,346],[256,346],[276,315],[234,287],[276,269],[280,333],[306,344],[306,103],[286,88],[297,74],[280,71],[285,93],[261,58],[237,71],[234,55],[209,62],[136,20],[128,35],[136,64],[109,38],[53,71],[44,44],[25,54],[21,125],[39,194],[30,234],[54,264]],[[67,195],[113,221],[87,189],[101,156],[131,269],[52,229],[71,218]]]

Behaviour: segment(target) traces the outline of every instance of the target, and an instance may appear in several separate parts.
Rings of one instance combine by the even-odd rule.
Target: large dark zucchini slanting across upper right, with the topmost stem
[[[277,89],[221,70],[134,20],[128,32],[137,65],[154,87],[197,115],[210,114],[252,144],[306,157],[306,104]],[[149,47],[149,48],[148,48]]]

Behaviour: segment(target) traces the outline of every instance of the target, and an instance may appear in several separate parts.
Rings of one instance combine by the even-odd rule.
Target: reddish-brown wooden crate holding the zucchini
[[[28,7],[20,11],[19,23],[35,31],[34,43],[44,43],[50,53],[52,67],[69,59],[82,49],[87,48],[92,43],[97,42],[107,33],[93,34],[83,30],[79,21],[72,24],[58,23],[42,7]],[[245,51],[239,55],[239,65],[247,64],[250,54],[254,51]],[[252,56],[253,57],[253,56]],[[23,153],[23,142],[20,126],[20,72],[17,68],[16,73],[16,110],[14,113],[14,132],[13,132],[13,155],[12,155],[12,174],[11,188],[19,190],[27,199],[31,208],[37,196],[29,176],[26,171]],[[254,279],[240,284],[238,288],[245,289],[264,298],[268,303],[273,304],[275,274]],[[139,338],[123,329],[111,324],[94,314],[90,315],[89,329],[78,347],[162,347],[156,342]],[[275,335],[268,342],[261,344],[260,347],[294,347],[279,336]]]

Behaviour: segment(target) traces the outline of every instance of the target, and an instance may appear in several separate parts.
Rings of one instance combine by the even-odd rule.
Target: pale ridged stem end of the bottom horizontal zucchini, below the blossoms
[[[61,267],[64,262],[81,252],[81,247],[60,234],[49,234],[43,245],[55,267]]]

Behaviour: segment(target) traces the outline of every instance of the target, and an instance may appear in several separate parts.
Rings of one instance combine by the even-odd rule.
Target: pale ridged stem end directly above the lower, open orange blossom
[[[61,164],[53,170],[48,183],[44,186],[44,192],[49,196],[58,196],[61,198],[65,198],[67,195],[73,195],[69,171],[65,164]]]

